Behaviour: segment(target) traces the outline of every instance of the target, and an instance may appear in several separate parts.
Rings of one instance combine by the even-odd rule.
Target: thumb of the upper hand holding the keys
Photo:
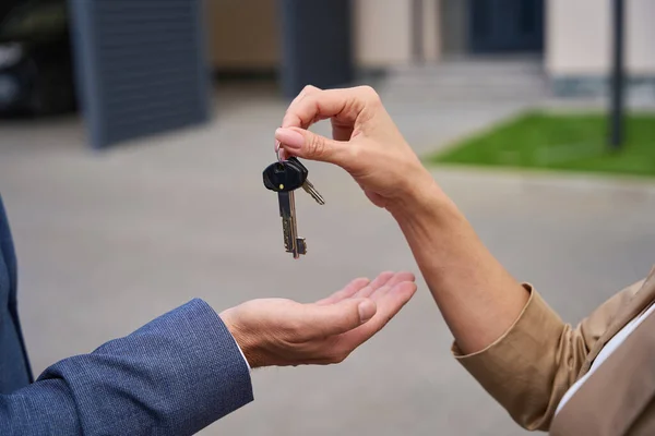
[[[352,145],[348,143],[330,140],[298,128],[277,129],[275,140],[293,156],[338,166],[347,164],[352,152]]]

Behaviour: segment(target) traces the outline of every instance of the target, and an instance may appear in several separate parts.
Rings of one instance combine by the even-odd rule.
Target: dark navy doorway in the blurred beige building
[[[474,53],[541,52],[544,0],[469,0]]]

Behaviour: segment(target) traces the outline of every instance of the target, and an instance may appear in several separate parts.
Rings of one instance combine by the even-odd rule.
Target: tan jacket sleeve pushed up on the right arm
[[[514,324],[486,349],[455,359],[521,426],[547,431],[559,401],[619,306],[639,283],[605,302],[576,327],[562,322],[528,283],[529,299]]]

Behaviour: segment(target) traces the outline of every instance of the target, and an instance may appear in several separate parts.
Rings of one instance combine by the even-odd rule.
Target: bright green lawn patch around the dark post
[[[655,113],[630,114],[623,149],[607,146],[605,114],[525,113],[430,156],[432,162],[655,177]]]

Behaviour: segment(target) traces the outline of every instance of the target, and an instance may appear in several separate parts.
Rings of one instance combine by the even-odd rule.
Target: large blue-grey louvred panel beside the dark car
[[[200,0],[70,0],[96,147],[206,121]]]

